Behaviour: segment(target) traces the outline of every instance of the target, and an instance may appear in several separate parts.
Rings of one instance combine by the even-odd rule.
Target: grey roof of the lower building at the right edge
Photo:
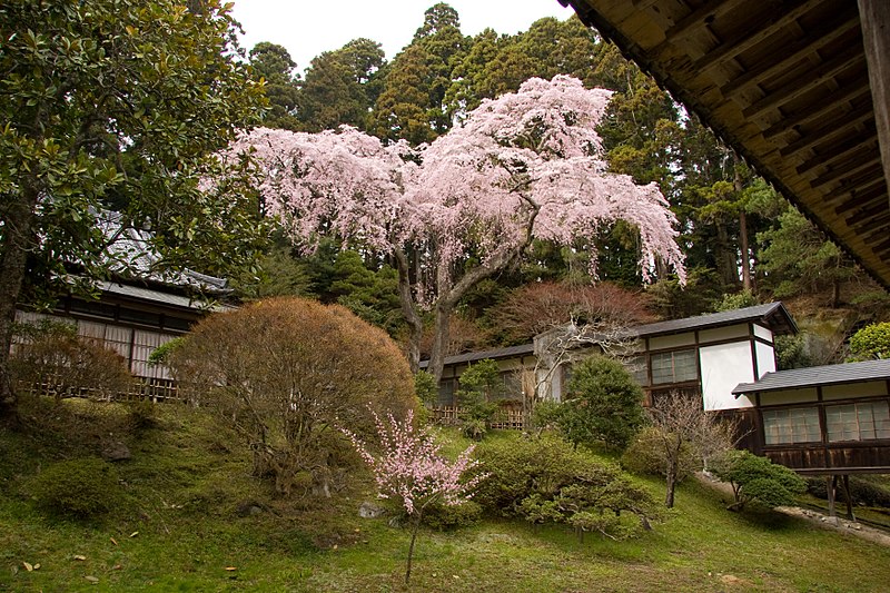
[[[881,379],[890,379],[890,359],[777,370],[767,373],[754,383],[741,383],[732,393],[739,396],[750,393]]]

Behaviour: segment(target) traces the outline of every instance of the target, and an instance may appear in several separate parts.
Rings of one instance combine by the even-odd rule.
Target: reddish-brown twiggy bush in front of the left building
[[[17,324],[19,343],[10,370],[19,385],[57,399],[88,396],[111,399],[134,382],[127,360],[98,340],[79,336],[73,325],[43,319]]]

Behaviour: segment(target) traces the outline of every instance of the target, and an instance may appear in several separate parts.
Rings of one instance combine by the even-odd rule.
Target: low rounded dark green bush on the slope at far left
[[[29,486],[38,506],[73,518],[98,517],[122,500],[117,471],[96,457],[52,464],[34,476]]]

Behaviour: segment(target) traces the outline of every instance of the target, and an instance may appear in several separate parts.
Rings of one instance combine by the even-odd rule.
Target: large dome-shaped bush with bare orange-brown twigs
[[[289,494],[312,476],[329,493],[354,458],[333,424],[373,433],[372,411],[415,409],[414,378],[396,344],[338,305],[261,300],[199,323],[170,356],[181,388],[246,439],[254,474]]]

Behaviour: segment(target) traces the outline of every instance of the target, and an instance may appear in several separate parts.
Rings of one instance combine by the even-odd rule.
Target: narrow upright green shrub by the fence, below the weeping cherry
[[[492,359],[474,363],[461,375],[457,401],[461,403],[461,428],[468,438],[481,439],[497,413],[496,401],[504,393],[504,379]]]

